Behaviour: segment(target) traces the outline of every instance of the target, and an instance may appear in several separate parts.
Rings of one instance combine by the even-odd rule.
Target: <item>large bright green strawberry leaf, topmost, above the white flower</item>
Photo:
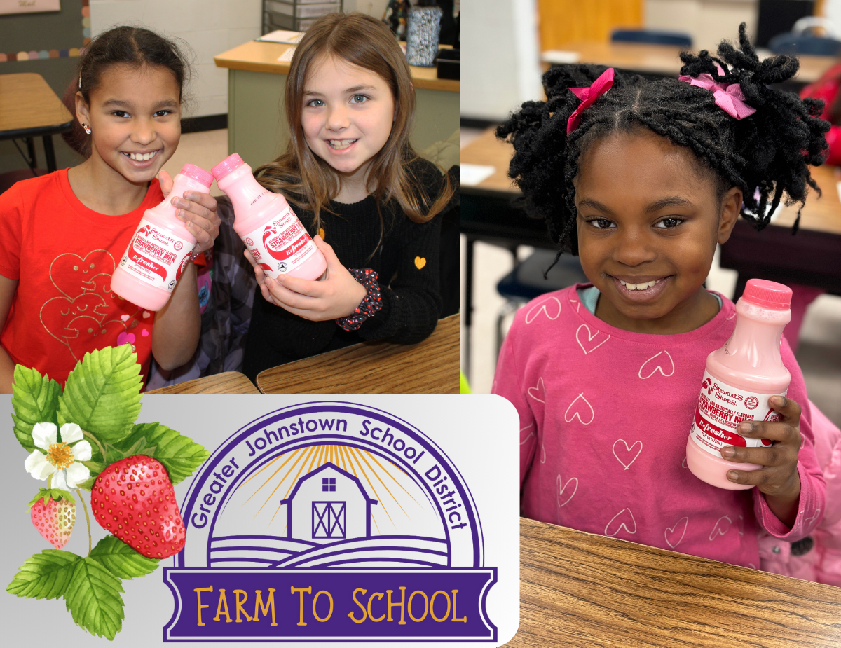
[[[67,377],[59,414],[103,443],[129,435],[140,414],[140,365],[131,345],[86,353]]]

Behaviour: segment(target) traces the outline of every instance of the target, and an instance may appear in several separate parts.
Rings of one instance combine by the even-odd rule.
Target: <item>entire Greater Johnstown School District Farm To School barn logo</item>
[[[165,641],[495,641],[456,466],[377,408],[304,403],[237,431],[190,487]]]

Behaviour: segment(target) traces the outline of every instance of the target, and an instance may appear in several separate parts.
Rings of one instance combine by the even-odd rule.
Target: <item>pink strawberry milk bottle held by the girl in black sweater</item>
[[[234,231],[267,276],[315,280],[324,274],[327,261],[286,198],[261,187],[239,155],[229,155],[210,171],[234,204]]]

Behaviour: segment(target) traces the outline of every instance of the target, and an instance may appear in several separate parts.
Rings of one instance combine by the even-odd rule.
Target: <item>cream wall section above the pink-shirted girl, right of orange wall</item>
[[[643,8],[645,27],[690,34],[694,50],[716,50],[722,39],[736,40],[740,23],[748,24],[753,40],[758,20],[759,0],[645,0]]]

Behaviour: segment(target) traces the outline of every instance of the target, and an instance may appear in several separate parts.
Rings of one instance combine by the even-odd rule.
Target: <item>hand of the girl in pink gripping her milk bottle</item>
[[[743,421],[738,433],[750,439],[774,441],[770,447],[722,448],[727,461],[763,466],[754,471],[727,471],[727,479],[738,484],[752,484],[765,494],[765,501],[780,522],[791,527],[800,498],[797,454],[800,451],[800,405],[791,398],[774,396],[770,407],[782,415],[780,421]]]

